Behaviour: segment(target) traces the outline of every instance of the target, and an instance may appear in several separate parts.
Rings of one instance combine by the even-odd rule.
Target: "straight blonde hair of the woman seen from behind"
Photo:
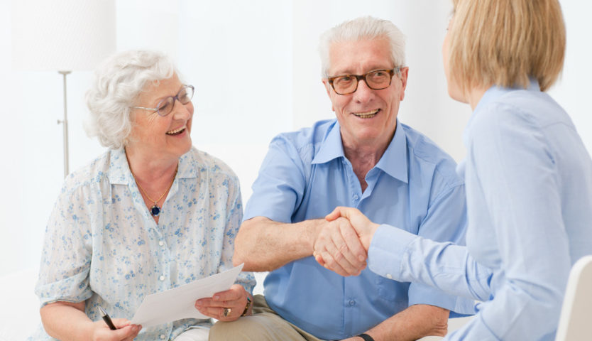
[[[565,25],[558,0],[453,0],[449,72],[462,90],[528,87],[545,91],[563,69]]]

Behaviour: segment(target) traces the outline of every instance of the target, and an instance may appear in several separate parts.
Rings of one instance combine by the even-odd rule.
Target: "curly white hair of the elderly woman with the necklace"
[[[176,72],[163,53],[131,50],[115,53],[95,70],[94,84],[87,92],[90,118],[85,122],[89,137],[102,146],[119,149],[129,142],[131,107],[148,82],[166,80]]]

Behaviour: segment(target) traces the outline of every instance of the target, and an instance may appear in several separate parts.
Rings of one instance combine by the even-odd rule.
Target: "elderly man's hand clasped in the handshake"
[[[366,268],[366,251],[348,220],[336,217],[319,228],[314,259],[341,276],[358,276]]]

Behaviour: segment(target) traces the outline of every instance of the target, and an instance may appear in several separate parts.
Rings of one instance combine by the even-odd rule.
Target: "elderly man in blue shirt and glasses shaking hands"
[[[252,316],[217,323],[210,340],[416,340],[445,335],[450,310],[474,313],[471,301],[364,269],[349,221],[322,219],[351,206],[375,222],[464,241],[454,161],[397,120],[408,72],[403,39],[393,23],[371,17],[322,36],[322,82],[336,120],[271,142],[234,252],[245,270],[270,271],[265,297],[254,298]]]

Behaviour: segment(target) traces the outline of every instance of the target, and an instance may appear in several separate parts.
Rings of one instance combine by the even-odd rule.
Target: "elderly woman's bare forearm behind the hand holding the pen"
[[[84,313],[84,302],[56,302],[40,309],[45,332],[62,341],[92,340],[92,321]]]

